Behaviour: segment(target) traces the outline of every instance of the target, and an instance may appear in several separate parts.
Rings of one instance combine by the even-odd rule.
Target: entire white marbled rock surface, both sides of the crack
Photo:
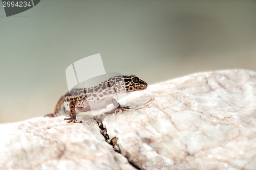
[[[82,124],[39,117],[0,125],[0,169],[256,169],[254,71],[199,72],[120,104],[132,109],[80,116]]]

